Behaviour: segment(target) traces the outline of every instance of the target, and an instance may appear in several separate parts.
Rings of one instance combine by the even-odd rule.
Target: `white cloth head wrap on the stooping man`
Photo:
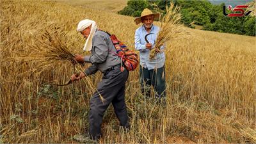
[[[77,26],[77,31],[81,32],[83,31],[84,29],[88,28],[88,26],[91,26],[92,24],[92,28],[91,28],[91,31],[90,31],[90,35],[88,36],[88,38],[86,39],[86,42],[84,44],[84,51],[91,51],[92,49],[92,37],[97,29],[97,25],[96,25],[96,22],[93,21],[93,20],[90,20],[90,19],[84,19],[84,20],[81,20],[79,23],[78,23],[78,26]]]

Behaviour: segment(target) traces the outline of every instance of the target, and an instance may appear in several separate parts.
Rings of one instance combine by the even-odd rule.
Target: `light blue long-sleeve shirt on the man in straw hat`
[[[160,28],[158,26],[152,25],[149,33],[153,34],[147,36],[148,42],[152,44],[152,47],[154,47],[155,45],[157,33],[159,32],[159,30]],[[145,41],[145,35],[147,34],[148,32],[143,25],[135,31],[135,49],[137,51],[140,51],[140,65],[141,67],[148,68],[148,70],[152,70],[154,68],[161,68],[164,66],[165,62],[164,52],[161,51],[156,54],[154,59],[149,59],[150,50],[146,49],[147,42]],[[160,47],[160,49],[163,50],[164,47],[162,46]]]

